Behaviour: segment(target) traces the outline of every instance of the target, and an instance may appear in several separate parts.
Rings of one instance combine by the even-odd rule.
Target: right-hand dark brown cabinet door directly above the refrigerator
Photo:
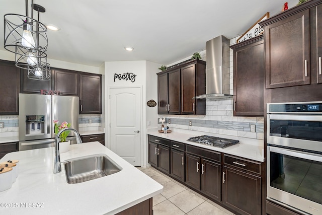
[[[53,90],[63,96],[79,96],[78,72],[66,69],[52,69]]]

